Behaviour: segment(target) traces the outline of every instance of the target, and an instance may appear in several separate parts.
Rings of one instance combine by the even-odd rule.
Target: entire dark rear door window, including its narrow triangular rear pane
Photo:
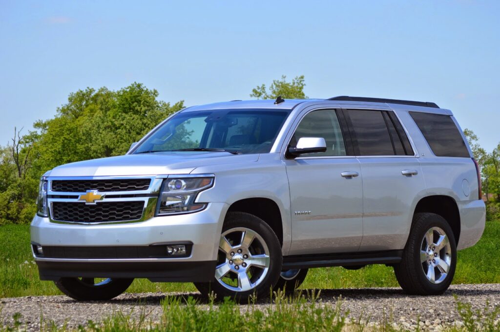
[[[413,154],[399,121],[390,112],[358,109],[350,109],[346,112],[350,119],[352,136],[357,142],[357,155]]]

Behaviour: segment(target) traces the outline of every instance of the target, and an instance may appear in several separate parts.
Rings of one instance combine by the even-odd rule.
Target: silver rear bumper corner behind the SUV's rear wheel
[[[481,238],[486,221],[486,207],[482,200],[456,202],[460,213],[460,238],[457,249],[472,247]]]

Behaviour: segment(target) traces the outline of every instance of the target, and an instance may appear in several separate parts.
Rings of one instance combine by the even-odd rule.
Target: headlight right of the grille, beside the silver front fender
[[[163,180],[156,215],[165,216],[203,210],[206,203],[194,203],[199,192],[213,185],[213,177]]]

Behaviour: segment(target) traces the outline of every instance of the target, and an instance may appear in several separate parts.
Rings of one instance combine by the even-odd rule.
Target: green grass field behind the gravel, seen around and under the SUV
[[[458,252],[454,284],[500,283],[500,221],[487,221],[481,240]],[[29,226],[0,226],[0,298],[61,294],[40,281],[29,249]],[[481,268],[483,267],[483,268]],[[397,287],[392,268],[372,265],[357,271],[321,268],[309,271],[301,288]],[[127,292],[191,292],[190,283],[151,283],[137,279]]]

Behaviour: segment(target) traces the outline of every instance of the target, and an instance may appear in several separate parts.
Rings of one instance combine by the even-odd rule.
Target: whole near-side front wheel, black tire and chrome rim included
[[[222,226],[214,278],[194,286],[203,296],[214,292],[217,300],[229,297],[247,303],[251,295],[270,295],[281,265],[281,246],[269,225],[249,213],[229,212]]]

